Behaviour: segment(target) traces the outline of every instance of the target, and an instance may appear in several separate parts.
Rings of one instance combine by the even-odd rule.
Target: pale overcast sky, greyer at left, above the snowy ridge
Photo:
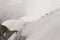
[[[20,18],[27,15],[28,20],[36,20],[59,7],[60,0],[0,0],[0,18]]]

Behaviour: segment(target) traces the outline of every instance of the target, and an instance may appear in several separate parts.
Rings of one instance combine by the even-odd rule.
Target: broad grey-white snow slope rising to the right
[[[60,8],[24,26],[26,40],[60,40]]]

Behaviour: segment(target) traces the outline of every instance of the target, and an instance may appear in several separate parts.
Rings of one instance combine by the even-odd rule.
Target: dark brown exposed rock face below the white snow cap
[[[17,31],[10,31],[6,26],[0,24],[0,40],[8,40],[8,38]]]

